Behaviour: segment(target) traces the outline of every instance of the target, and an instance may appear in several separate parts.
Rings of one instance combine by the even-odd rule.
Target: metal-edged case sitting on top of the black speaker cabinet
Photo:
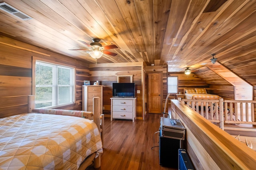
[[[179,119],[160,119],[160,137],[184,140],[185,130]]]

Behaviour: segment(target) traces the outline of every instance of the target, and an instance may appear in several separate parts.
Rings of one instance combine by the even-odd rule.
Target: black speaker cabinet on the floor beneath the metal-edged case
[[[161,166],[178,169],[178,150],[180,149],[180,142],[179,139],[160,137],[159,163]]]

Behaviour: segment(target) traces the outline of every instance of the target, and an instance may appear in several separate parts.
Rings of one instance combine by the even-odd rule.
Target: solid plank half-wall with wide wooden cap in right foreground
[[[195,169],[255,169],[256,152],[244,143],[177,100],[171,100],[171,111],[172,119],[180,119],[186,128],[184,148]]]

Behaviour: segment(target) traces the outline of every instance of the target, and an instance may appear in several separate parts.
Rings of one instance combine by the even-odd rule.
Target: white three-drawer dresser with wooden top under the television
[[[136,98],[112,97],[111,99],[111,121],[113,119],[136,119]]]

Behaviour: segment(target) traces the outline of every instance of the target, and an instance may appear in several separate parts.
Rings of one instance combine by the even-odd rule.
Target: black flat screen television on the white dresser
[[[113,97],[135,97],[135,83],[113,83]]]

